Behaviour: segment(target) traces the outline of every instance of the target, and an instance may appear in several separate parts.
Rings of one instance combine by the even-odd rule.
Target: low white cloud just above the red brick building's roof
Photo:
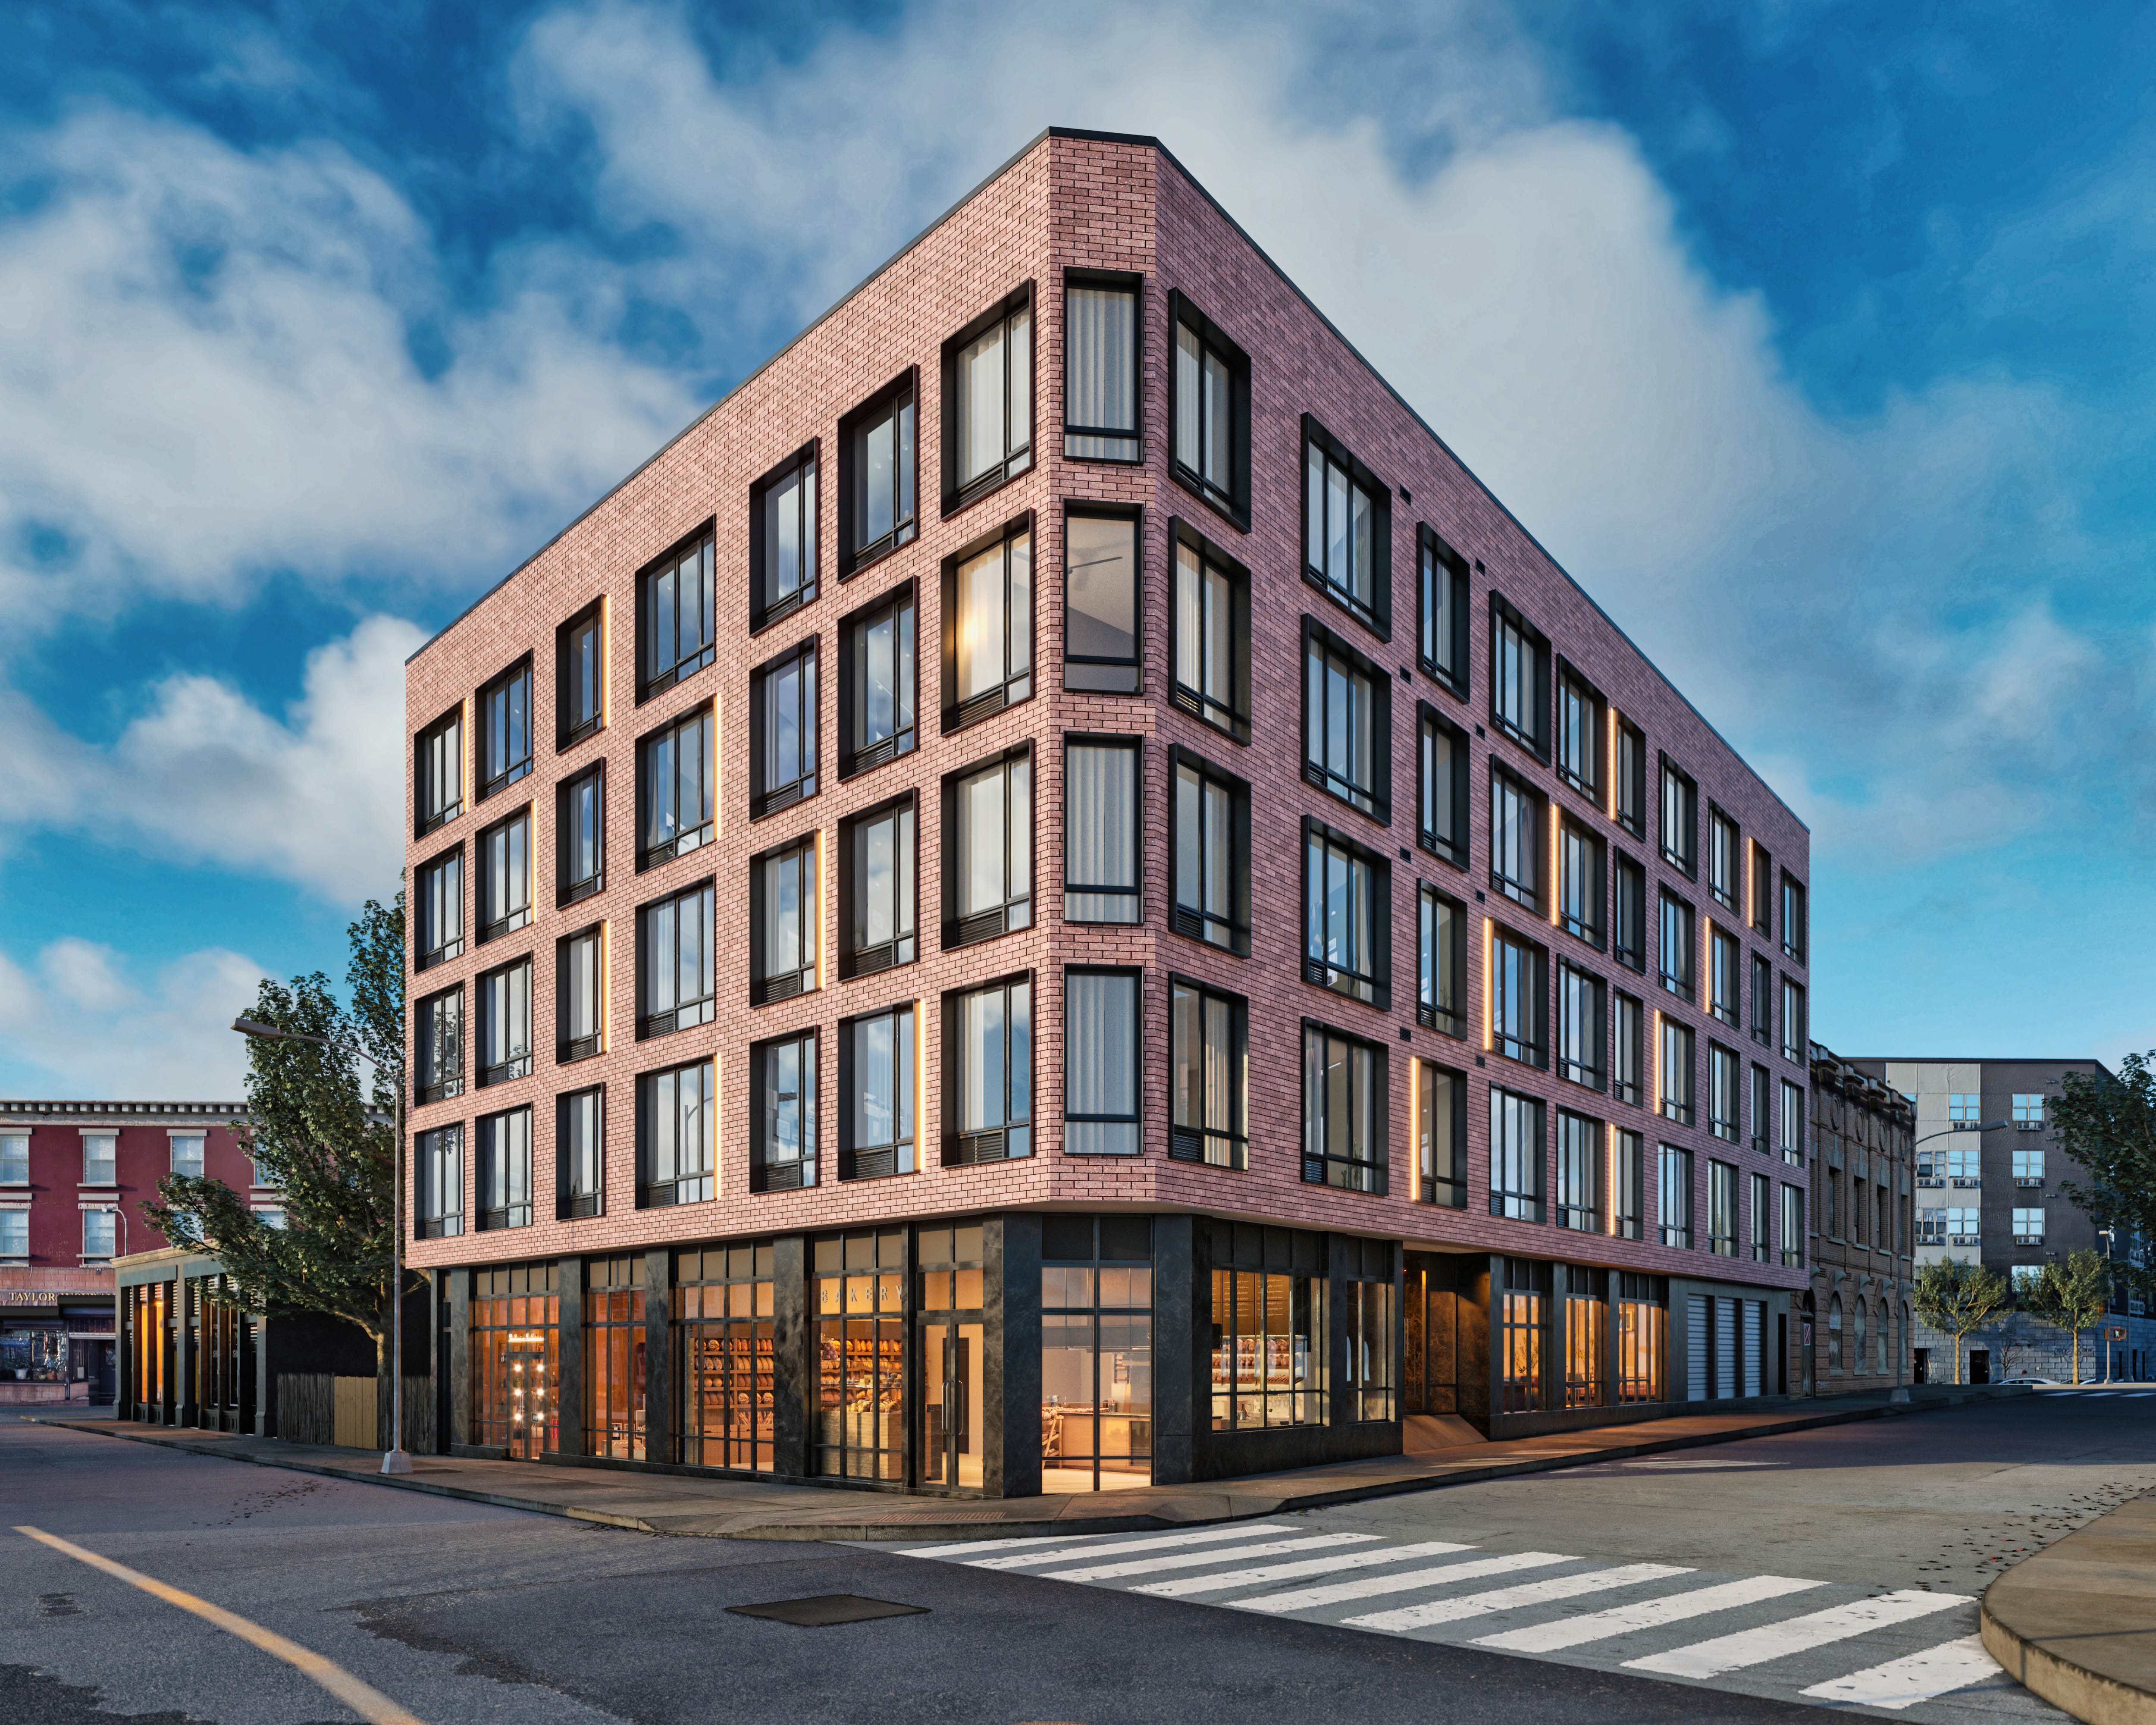
[[[63,938],[30,964],[0,953],[0,1089],[17,1098],[237,1102],[233,1013],[263,968],[209,947],[136,981],[110,947]]]

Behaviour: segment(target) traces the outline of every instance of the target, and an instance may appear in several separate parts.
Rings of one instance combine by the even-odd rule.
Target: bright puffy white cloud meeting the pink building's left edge
[[[412,623],[367,619],[308,656],[282,718],[213,677],[166,677],[110,748],[0,696],[0,748],[24,763],[0,834],[37,822],[338,903],[388,901],[403,850],[403,660],[418,645]],[[56,985],[95,994],[101,949],[63,949]]]

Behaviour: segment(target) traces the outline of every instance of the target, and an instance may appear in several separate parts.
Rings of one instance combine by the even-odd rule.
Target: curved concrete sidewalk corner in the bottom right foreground
[[[1984,1589],[1984,1645],[2087,1725],[2156,1725],[2156,1499],[2122,1503]]]

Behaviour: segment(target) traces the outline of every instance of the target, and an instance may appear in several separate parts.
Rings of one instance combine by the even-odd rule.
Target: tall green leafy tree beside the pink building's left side
[[[233,1128],[280,1190],[285,1227],[263,1223],[222,1179],[190,1175],[160,1179],[142,1214],[175,1246],[216,1253],[246,1309],[323,1313],[364,1330],[375,1343],[377,1399],[388,1406],[403,893],[392,906],[369,899],[349,938],[349,1007],[317,970],[291,985],[263,977],[248,1011],[328,1041],[248,1039],[248,1117]],[[405,1270],[407,1289],[414,1281]]]

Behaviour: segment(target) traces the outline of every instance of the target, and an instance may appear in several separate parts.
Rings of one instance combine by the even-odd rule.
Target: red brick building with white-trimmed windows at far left
[[[274,1210],[229,1121],[239,1102],[0,1100],[0,1404],[110,1402],[114,1272],[166,1244],[142,1220],[168,1173]]]

